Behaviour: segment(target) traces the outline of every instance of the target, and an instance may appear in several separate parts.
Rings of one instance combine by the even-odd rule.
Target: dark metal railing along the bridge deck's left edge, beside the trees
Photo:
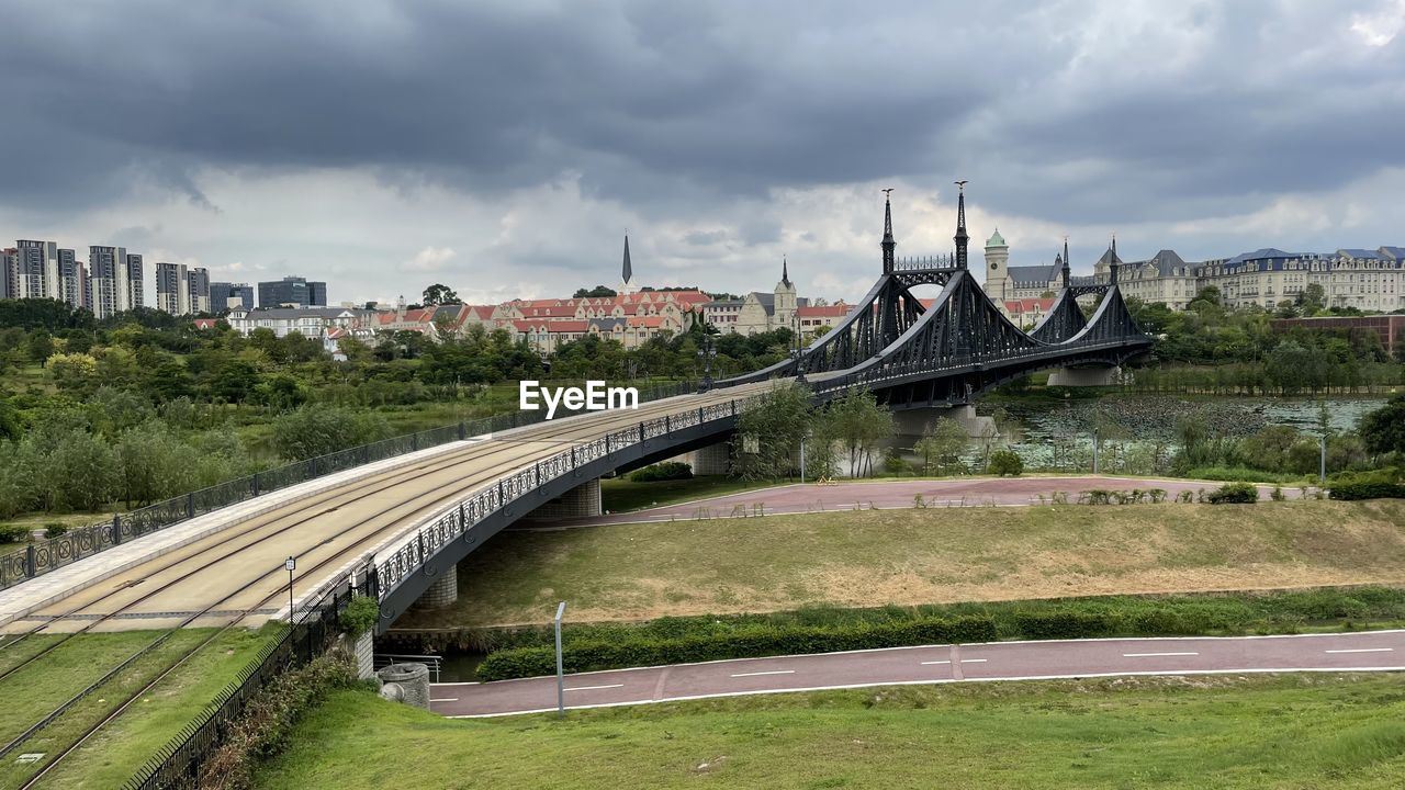
[[[656,401],[695,391],[697,385],[694,382],[655,384],[639,388],[639,401]],[[212,510],[237,505],[263,493],[471,436],[534,425],[545,420],[545,416],[547,412],[540,409],[534,412],[509,412],[506,415],[495,415],[492,417],[422,430],[419,433],[395,436],[327,455],[264,470],[249,477],[183,493],[164,502],[156,502],[129,513],[115,514],[100,524],[73,529],[62,536],[0,554],[0,590],[13,588],[35,576],[42,576],[84,557],[107,551],[114,545],[121,545],[129,540],[164,530],[166,527]]]

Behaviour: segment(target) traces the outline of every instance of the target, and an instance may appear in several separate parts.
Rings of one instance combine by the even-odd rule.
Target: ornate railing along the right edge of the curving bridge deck
[[[499,478],[488,488],[451,505],[443,516],[422,527],[407,543],[377,565],[381,600],[385,600],[406,576],[423,568],[426,561],[434,557],[440,548],[454,540],[464,538],[473,524],[541,488],[542,484],[570,475],[592,461],[635,444],[669,436],[677,430],[735,419],[752,399],[754,396],[733,398],[722,403],[643,420]]]

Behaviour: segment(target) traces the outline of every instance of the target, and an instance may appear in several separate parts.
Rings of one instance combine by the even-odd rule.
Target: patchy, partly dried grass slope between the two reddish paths
[[[1399,583],[1405,500],[830,512],[503,533],[396,627]]]

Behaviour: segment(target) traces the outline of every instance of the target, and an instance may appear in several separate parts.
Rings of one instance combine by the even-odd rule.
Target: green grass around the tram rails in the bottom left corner
[[[126,711],[83,744],[63,765],[45,777],[52,787],[119,787],[148,758],[195,718],[273,638],[275,627],[259,631],[235,628],[166,676]],[[15,753],[44,752],[37,763],[0,763],[0,787],[18,786],[55,752],[107,717],[129,694],[149,683],[184,651],[211,634],[209,628],[183,630],[87,694],[66,714],[38,731]],[[159,631],[83,634],[0,682],[8,700],[0,710],[0,742],[8,742],[112,666],[150,644]],[[38,637],[0,651],[0,666],[14,666],[58,637]],[[11,655],[11,651],[15,651]]]

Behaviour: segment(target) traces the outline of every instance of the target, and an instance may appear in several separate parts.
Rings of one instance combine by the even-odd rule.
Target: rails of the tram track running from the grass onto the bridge
[[[693,409],[698,405],[708,405],[711,402],[725,402],[740,394],[736,391],[728,391],[725,394],[710,395],[711,396],[705,398],[690,398],[693,402],[686,408]],[[540,457],[558,453],[562,446],[569,446],[580,440],[589,440],[604,432],[618,430],[636,422],[677,410],[679,405],[670,401],[674,399],[649,402],[646,405],[641,405],[638,410],[586,415],[587,419],[582,419],[579,422],[562,420],[556,425],[548,423],[517,429],[510,432],[510,436],[506,437],[478,441],[461,450],[451,451],[443,457],[429,460],[423,464],[414,464],[410,468],[391,470],[365,481],[357,481],[355,484],[351,484],[355,488],[350,492],[344,488],[325,492],[315,495],[311,499],[303,499],[257,516],[242,524],[230,527],[229,530],[223,530],[216,536],[211,536],[215,540],[208,540],[208,545],[200,545],[207,543],[207,538],[202,538],[201,541],[195,541],[195,544],[192,544],[197,547],[194,551],[173,552],[180,554],[180,557],[155,558],[149,564],[142,564],[132,569],[136,571],[135,574],[132,571],[119,574],[119,576],[136,575],[139,576],[138,579],[118,583],[105,592],[100,590],[96,597],[86,596],[79,592],[74,596],[70,596],[79,599],[77,604],[67,606],[65,610],[58,613],[45,614],[44,621],[0,645],[0,651],[4,651],[35,634],[49,630],[53,626],[70,623],[79,616],[87,616],[89,619],[81,628],[65,633],[60,640],[6,669],[0,673],[0,683],[4,683],[11,678],[22,678],[27,668],[37,666],[39,659],[52,654],[73,637],[91,633],[104,623],[111,623],[124,613],[131,611],[133,607],[150,602],[152,599],[156,599],[183,583],[197,579],[202,572],[211,572],[214,568],[229,562],[233,557],[250,550],[251,547],[274,544],[280,537],[299,537],[299,529],[306,530],[309,524],[318,524],[319,520],[333,516],[346,507],[374,502],[377,496],[392,492],[395,488],[412,484],[412,481],[417,482],[419,485],[412,485],[416,492],[406,492],[409,496],[393,498],[389,505],[368,514],[362,514],[348,524],[337,526],[330,531],[326,529],[319,530],[318,537],[322,538],[319,543],[311,548],[305,548],[302,552],[292,551],[292,554],[305,555],[323,547],[332,547],[325,557],[313,557],[312,565],[303,571],[303,575],[326,574],[329,571],[334,572],[337,568],[341,568],[354,559],[367,557],[370,551],[386,540],[388,534],[393,534],[389,531],[389,527],[403,523],[406,517],[413,517],[414,514],[423,512],[433,512],[434,509],[443,507],[451,502],[464,499],[475,489],[492,484],[495,479],[503,477],[504,474],[510,474],[521,465],[528,465]],[[441,486],[440,482],[445,474],[448,475],[451,484]],[[448,488],[447,493],[445,488]],[[315,513],[306,514],[309,507],[313,509]],[[226,536],[230,530],[237,530],[237,533]],[[341,545],[336,545],[339,541],[341,541]],[[280,547],[278,554],[282,551],[285,551],[285,548]],[[128,694],[117,704],[115,708],[105,713],[90,727],[84,728],[79,738],[73,739],[56,752],[53,758],[45,762],[37,773],[30,776],[21,787],[35,786],[44,776],[49,775],[55,768],[62,765],[69,755],[77,751],[94,734],[121,717],[135,700],[155,689],[191,656],[197,655],[201,649],[218,640],[221,635],[226,634],[230,628],[244,623],[253,614],[263,610],[266,604],[281,596],[285,589],[285,585],[281,583],[282,566],[281,564],[268,566],[271,569],[257,572],[246,582],[223,592],[200,609],[185,613],[178,624],[164,630],[160,635],[152,640],[152,642],[107,671],[96,682],[90,683],[62,704],[56,706],[48,715],[27,728],[8,744],[0,746],[0,758],[4,758],[30,738],[58,721],[65,713],[72,710],[90,693],[104,687],[107,683],[121,676],[124,671],[136,663],[142,656],[150,655],[153,651],[159,649],[181,628],[191,626],[197,620],[208,617],[215,611],[233,611],[233,614],[225,617],[223,623],[216,626],[215,633],[212,633],[208,638],[200,641],[190,649],[181,651],[180,655],[167,662],[149,683],[145,683],[135,693]],[[129,600],[122,600],[122,593],[129,593],[129,590],[139,588],[145,581],[167,574],[170,574],[171,578],[159,579],[157,586],[140,590]],[[274,585],[268,585],[268,582],[274,582]],[[270,590],[270,588],[271,592],[264,592]],[[254,596],[253,599],[249,599],[253,600],[251,604],[249,600],[240,602],[242,596],[247,595]],[[105,613],[97,613],[96,617],[86,613],[86,610],[91,610],[103,603],[114,603],[117,607]]]

